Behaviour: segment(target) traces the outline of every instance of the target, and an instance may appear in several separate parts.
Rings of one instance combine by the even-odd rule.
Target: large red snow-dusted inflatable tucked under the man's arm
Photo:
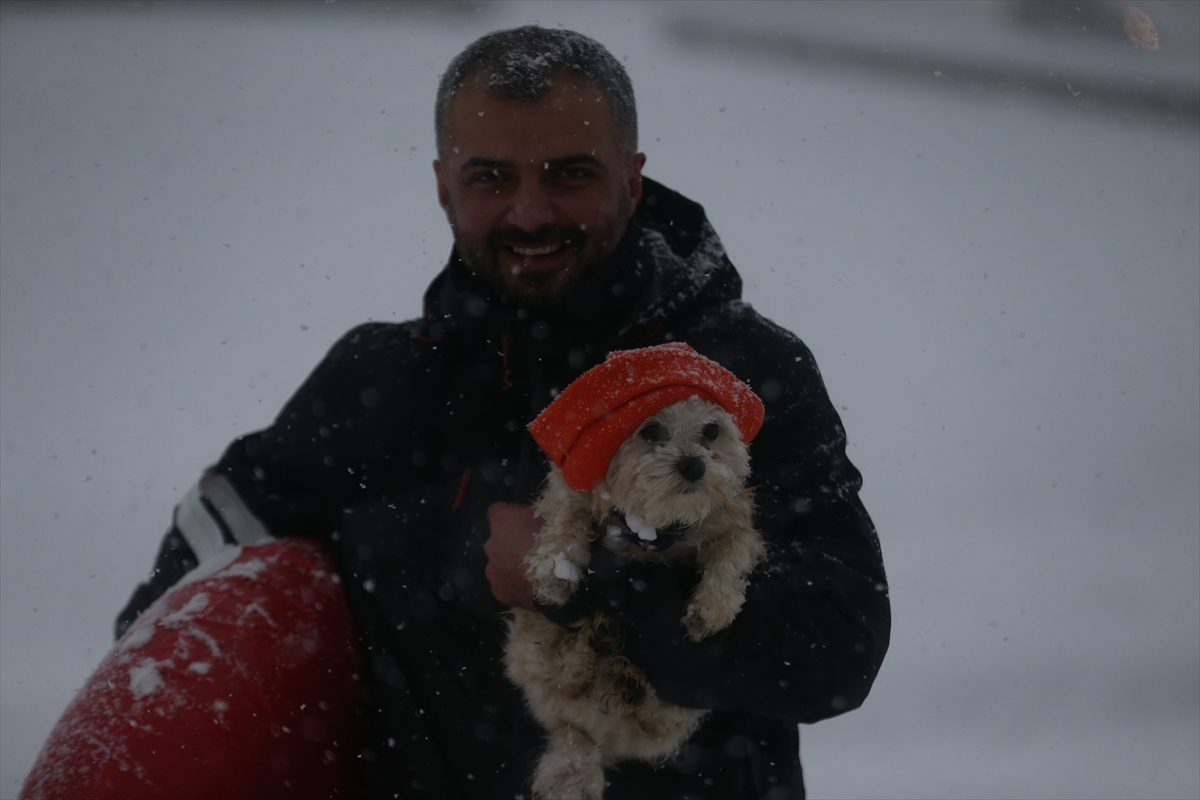
[[[358,668],[320,545],[229,548],[133,622],[54,727],[20,798],[348,798]]]

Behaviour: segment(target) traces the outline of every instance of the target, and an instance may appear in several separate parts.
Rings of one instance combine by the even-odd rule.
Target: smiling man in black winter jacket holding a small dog
[[[367,664],[364,796],[528,796],[541,729],[504,676],[503,612],[547,463],[526,426],[612,350],[686,342],[766,404],[751,449],[769,564],[727,630],[679,624],[697,576],[602,548],[566,608],[604,608],[671,703],[712,709],[608,798],[799,798],[798,722],[857,708],[889,607],[860,477],[811,354],[740,300],[701,206],[642,178],[632,88],[596,42],[536,26],[461,53],[437,100],[454,230],[424,315],[334,345],[275,423],[234,441],[176,509],[118,633],[227,543],[312,536],[338,563]],[[574,610],[572,610],[574,609]]]

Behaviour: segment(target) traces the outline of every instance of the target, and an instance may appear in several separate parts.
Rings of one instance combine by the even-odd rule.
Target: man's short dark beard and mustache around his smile
[[[604,261],[620,242],[629,224],[628,198],[622,198],[617,215],[601,225],[546,224],[534,231],[514,225],[493,229],[482,240],[462,235],[454,210],[449,210],[455,247],[467,269],[481,277],[502,297],[523,306],[552,306],[586,275]],[[564,254],[556,269],[522,269],[522,258],[512,247],[536,248],[560,245],[554,253]],[[528,264],[528,259],[524,260]]]

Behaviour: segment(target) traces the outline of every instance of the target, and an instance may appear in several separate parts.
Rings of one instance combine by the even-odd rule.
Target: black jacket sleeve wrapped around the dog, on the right
[[[733,624],[688,640],[680,619],[695,570],[623,563],[599,546],[577,597],[544,613],[560,624],[586,609],[616,618],[625,654],[671,703],[816,722],[866,698],[887,651],[890,608],[878,539],[858,499],[862,479],[816,362],[794,336],[770,329],[768,347],[743,338],[736,351],[689,339],[767,407],[750,480],[769,558],[750,577]]]

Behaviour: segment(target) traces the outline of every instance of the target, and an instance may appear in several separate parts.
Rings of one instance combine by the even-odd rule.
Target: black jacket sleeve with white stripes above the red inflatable
[[[436,389],[422,377],[436,354],[408,324],[368,323],[334,344],[275,422],[230,444],[175,506],[116,636],[224,547],[328,535],[358,497],[415,481],[430,435],[416,421],[430,419]]]

